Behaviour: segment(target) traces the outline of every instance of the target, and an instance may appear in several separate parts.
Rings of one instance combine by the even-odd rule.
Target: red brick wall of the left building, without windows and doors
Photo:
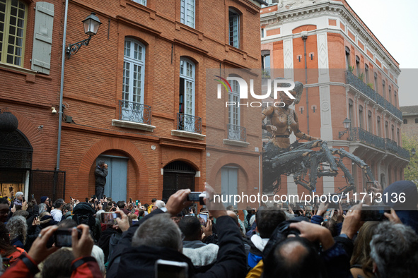
[[[52,68],[50,75],[42,75],[28,70],[33,40],[33,26],[29,23],[33,21],[35,3],[28,4],[24,66],[0,64],[0,107],[8,107],[18,117],[19,130],[33,146],[33,169],[53,170],[57,163],[58,114],[51,114],[51,107],[59,109],[64,6],[54,3]],[[99,155],[128,158],[127,198],[141,198],[142,203],[161,198],[161,169],[174,161],[186,162],[200,173],[195,177],[195,191],[204,190],[204,181],[218,181],[220,169],[226,164],[240,168],[240,186],[257,187],[259,154],[245,151],[255,163],[244,163],[231,155],[241,153],[242,147],[227,146],[228,152],[211,150],[216,170],[208,169],[209,178],[206,139],[172,135],[177,129],[180,58],[195,64],[195,116],[202,118],[202,135],[207,136],[207,68],[261,65],[257,2],[195,3],[195,28],[191,28],[180,23],[180,0],[148,0],[146,6],[130,0],[106,5],[95,0],[69,2],[66,44],[86,37],[81,21],[92,11],[103,24],[87,47],[65,61],[63,114],[71,116],[72,121],[62,123],[59,169],[66,171],[66,201],[70,195],[83,200],[94,193],[93,171]],[[229,8],[240,15],[239,48],[229,45]],[[151,124],[156,127],[152,132],[112,125],[112,120],[120,119],[125,38],[145,46],[144,104],[151,107]],[[252,115],[241,115],[242,123],[252,121]],[[214,123],[214,127],[226,135],[226,123]],[[42,129],[37,128],[40,125]],[[260,147],[260,128],[252,126],[255,129],[247,126],[250,139],[245,150]]]

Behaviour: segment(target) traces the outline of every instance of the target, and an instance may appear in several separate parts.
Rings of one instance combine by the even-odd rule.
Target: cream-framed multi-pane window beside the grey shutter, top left
[[[0,0],[0,61],[23,66],[28,6],[24,1]]]

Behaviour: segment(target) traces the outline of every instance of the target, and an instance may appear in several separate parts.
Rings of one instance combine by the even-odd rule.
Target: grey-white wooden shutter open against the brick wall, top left
[[[50,74],[53,25],[54,4],[37,2],[33,35],[33,71]]]

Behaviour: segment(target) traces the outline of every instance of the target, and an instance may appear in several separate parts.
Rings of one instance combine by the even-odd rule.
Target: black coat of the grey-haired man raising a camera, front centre
[[[149,217],[162,213],[161,210],[154,210],[139,221],[138,224],[131,226],[124,233],[115,252],[110,260],[110,268],[106,277],[155,277],[154,265],[156,260],[174,260],[178,262],[187,262],[189,265],[189,278],[192,277],[213,277],[213,278],[234,278],[245,277],[247,273],[247,262],[243,238],[236,222],[231,217],[223,216],[216,219],[218,226],[218,257],[214,265],[208,269],[196,268],[192,262],[182,253],[171,248],[139,246],[131,247],[131,239],[138,226]],[[204,271],[206,270],[206,271]]]

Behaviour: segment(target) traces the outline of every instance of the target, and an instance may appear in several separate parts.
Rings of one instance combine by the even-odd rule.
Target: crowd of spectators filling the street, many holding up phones
[[[410,181],[375,193],[407,192],[381,221],[362,221],[376,203],[263,204],[238,211],[187,200],[189,189],[168,200],[141,202],[42,196],[0,198],[0,253],[4,277],[418,277],[418,191]],[[93,196],[94,197],[94,196]],[[115,223],[103,214],[113,212]],[[204,215],[207,215],[207,219]],[[199,217],[198,217],[199,216]],[[57,247],[62,229],[71,247]],[[156,276],[158,272],[158,276]]]

